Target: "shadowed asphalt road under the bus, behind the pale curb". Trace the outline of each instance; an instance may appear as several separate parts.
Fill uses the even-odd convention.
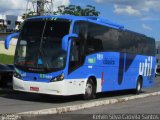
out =
[[[155,92],[160,90],[160,77],[157,78],[155,86],[144,89],[141,94]],[[98,100],[120,98],[124,96],[132,96],[132,91],[108,92],[105,94],[98,94]],[[96,101],[90,100],[90,101]],[[40,109],[48,109],[62,106],[69,106],[81,104],[85,102],[81,96],[70,97],[41,97],[37,94],[14,92],[12,90],[0,89],[0,114],[5,113],[19,113]]]

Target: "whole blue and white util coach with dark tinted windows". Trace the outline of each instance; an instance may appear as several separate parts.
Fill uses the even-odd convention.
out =
[[[24,21],[15,50],[13,89],[83,95],[133,89],[155,81],[155,40],[90,16],[37,16]]]

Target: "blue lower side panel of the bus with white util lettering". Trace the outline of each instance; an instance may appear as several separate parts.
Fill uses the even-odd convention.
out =
[[[151,75],[150,69],[152,69]],[[87,80],[90,76],[94,76],[99,84],[97,86],[99,92],[105,92],[134,89],[139,75],[142,75],[143,87],[151,86],[155,79],[154,71],[155,57],[100,52],[86,56],[84,64],[72,71],[68,79]]]

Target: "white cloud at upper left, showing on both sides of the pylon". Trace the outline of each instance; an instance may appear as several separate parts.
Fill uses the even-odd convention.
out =
[[[28,0],[0,0],[0,14],[22,15],[25,13],[27,1]],[[54,10],[57,10],[57,7],[60,5],[67,6],[69,4],[70,0],[53,0]],[[32,8],[33,7],[31,7],[31,9]]]

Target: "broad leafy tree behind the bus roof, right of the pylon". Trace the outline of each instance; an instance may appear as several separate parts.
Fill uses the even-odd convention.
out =
[[[64,5],[59,6],[58,10],[54,12],[55,15],[75,15],[75,16],[99,16],[100,12],[96,10],[94,6],[87,5],[86,8],[81,6],[69,5],[65,7]]]

